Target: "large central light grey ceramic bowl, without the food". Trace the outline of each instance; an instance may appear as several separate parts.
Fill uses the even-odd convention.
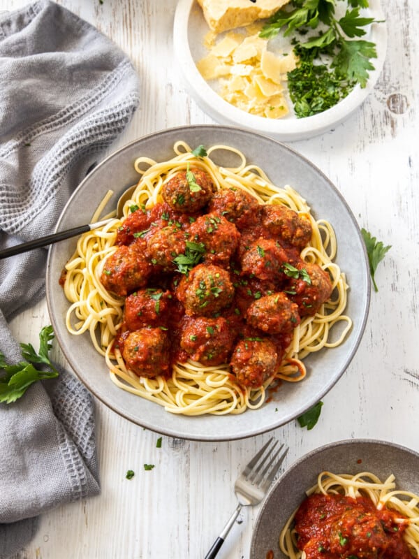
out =
[[[108,376],[105,361],[96,354],[89,334],[70,335],[65,315],[68,302],[58,284],[61,270],[71,256],[76,240],[53,245],[47,263],[47,304],[52,326],[64,355],[89,390],[115,412],[140,426],[191,440],[235,440],[267,430],[295,419],[320,400],[341,377],[355,354],[365,328],[369,308],[370,279],[365,246],[351,210],[339,191],[307,159],[275,140],[229,126],[184,126],[145,136],[123,147],[99,164],[80,184],[59,219],[57,231],[89,223],[99,201],[108,189],[115,191],[109,210],[115,208],[122,191],[138,180],[133,169],[136,157],[149,156],[156,161],[172,157],[176,140],[189,146],[203,144],[233,145],[247,159],[261,166],[273,182],[291,184],[307,199],[315,216],[328,219],[335,227],[337,263],[346,272],[348,284],[347,314],[353,328],[340,347],[319,351],[306,359],[304,382],[284,384],[272,400],[255,411],[239,416],[185,417],[166,412],[162,407],[117,388]],[[231,166],[237,159],[220,153],[217,164]]]

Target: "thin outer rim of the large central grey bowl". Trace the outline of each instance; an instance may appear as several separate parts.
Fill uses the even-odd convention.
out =
[[[182,131],[199,131],[200,133],[216,133],[216,131],[225,131],[226,133],[229,133],[230,131],[235,131],[236,133],[244,134],[247,136],[251,136],[251,138],[263,138],[263,140],[268,141],[270,143],[274,143],[276,145],[278,145],[280,147],[281,150],[286,150],[286,152],[290,152],[291,154],[294,155],[294,157],[296,157],[297,159],[300,159],[304,162],[305,165],[309,166],[309,168],[311,168],[311,170],[314,171],[314,173],[316,173],[317,175],[320,175],[321,178],[328,183],[328,186],[330,187],[330,189],[333,191],[333,193],[335,194],[335,196],[337,196],[337,198],[339,198],[339,201],[341,201],[342,205],[344,205],[344,208],[346,209],[347,215],[348,217],[351,219],[351,222],[353,223],[353,226],[355,227],[355,230],[357,231],[357,235],[359,240],[362,240],[361,238],[361,234],[360,234],[360,228],[358,226],[358,222],[355,219],[355,216],[353,215],[353,212],[351,210],[351,208],[349,207],[348,203],[346,202],[344,196],[342,196],[341,192],[339,191],[339,189],[337,189],[337,187],[335,186],[335,184],[332,183],[332,181],[328,178],[327,175],[325,175],[325,173],[323,173],[323,171],[318,168],[314,163],[312,163],[309,159],[307,159],[307,157],[304,157],[304,155],[300,154],[300,152],[297,152],[297,150],[295,150],[293,147],[290,147],[288,145],[285,145],[284,143],[279,142],[279,140],[275,140],[274,138],[270,138],[268,136],[265,136],[261,133],[257,133],[254,131],[249,131],[246,129],[240,129],[237,126],[226,126],[226,125],[219,125],[219,124],[197,124],[197,125],[184,125],[184,126],[175,126],[172,127],[170,129],[162,129],[160,131],[156,131],[156,132],[152,132],[149,133],[145,136],[140,136],[139,138],[136,138],[135,140],[132,140],[128,143],[126,143],[126,145],[123,145],[122,147],[119,147],[119,149],[115,150],[114,152],[112,152],[111,154],[108,155],[108,157],[105,157],[105,159],[103,159],[103,161],[101,161],[95,168],[94,170],[91,171],[91,173],[89,173],[89,175],[87,175],[87,177],[84,177],[84,180],[82,180],[82,182],[80,182],[80,184],[78,185],[78,187],[75,189],[75,191],[73,192],[72,196],[68,199],[66,205],[64,206],[61,215],[57,221],[57,226],[56,226],[56,231],[59,231],[61,222],[65,219],[66,217],[66,212],[68,210],[68,208],[71,208],[71,204],[73,203],[73,199],[76,198],[78,196],[78,193],[80,191],[82,191],[82,189],[84,188],[84,184],[91,180],[91,175],[93,175],[96,170],[102,168],[103,166],[105,166],[106,164],[108,164],[109,161],[112,161],[112,159],[114,159],[115,157],[118,157],[118,155],[126,150],[129,150],[131,147],[135,146],[138,143],[142,143],[143,141],[147,141],[149,139],[152,138],[159,138],[161,136],[166,136],[166,135],[170,135],[173,133],[177,133],[179,134],[179,138],[182,138]],[[367,268],[367,251],[365,248],[365,244],[363,242],[361,242],[361,246],[363,249],[363,256],[364,256],[364,264],[365,264],[365,268]],[[59,250],[59,247],[57,245],[51,245],[50,249],[48,251],[48,257],[47,257],[47,267],[46,267],[46,298],[47,298],[47,308],[48,308],[48,312],[50,314],[50,319],[52,322],[52,326],[54,329],[54,332],[60,332],[62,325],[59,324],[59,317],[57,317],[57,313],[54,312],[54,308],[53,308],[53,297],[52,297],[52,285],[54,282],[54,277],[50,277],[50,273],[51,273],[51,267],[52,267],[52,259],[54,258],[54,255],[57,254]],[[366,270],[368,271],[368,270]],[[370,298],[371,298],[371,278],[369,273],[366,273],[366,281],[367,281],[367,286],[366,286],[366,294],[365,294],[365,305],[362,308],[362,321],[360,321],[360,326],[358,328],[358,335],[357,337],[353,340],[353,347],[351,349],[351,351],[349,352],[348,356],[346,356],[346,359],[343,361],[343,363],[341,364],[341,373],[338,377],[333,377],[332,379],[329,379],[329,381],[327,383],[324,384],[324,386],[322,387],[321,391],[319,391],[318,393],[316,393],[316,395],[318,395],[318,399],[323,398],[323,395],[325,395],[326,393],[328,393],[328,391],[330,391],[330,389],[332,389],[333,386],[335,386],[335,384],[337,383],[337,381],[341,378],[341,376],[344,374],[344,371],[348,368],[348,365],[351,363],[351,361],[353,360],[353,357],[355,356],[355,353],[358,351],[358,347],[360,344],[360,341],[362,340],[362,336],[365,333],[365,326],[367,324],[367,318],[368,318],[368,314],[369,314],[369,307],[370,307]],[[63,317],[61,317],[62,320]],[[355,333],[354,333],[355,335]],[[120,416],[123,416],[125,419],[128,419],[128,421],[131,421],[135,424],[137,424],[138,426],[142,426],[145,428],[148,428],[149,430],[153,430],[156,433],[160,433],[162,435],[168,435],[170,437],[181,437],[184,438],[186,440],[199,440],[199,441],[227,441],[227,440],[240,440],[240,439],[244,439],[247,437],[252,437],[255,435],[259,435],[261,433],[266,433],[267,431],[273,430],[274,428],[278,428],[282,425],[285,425],[286,423],[288,423],[289,421],[292,421],[293,419],[295,419],[295,414],[293,414],[293,416],[285,416],[283,419],[280,419],[279,421],[274,421],[270,426],[258,426],[257,423],[255,426],[253,426],[253,429],[251,430],[251,432],[244,432],[244,433],[240,433],[239,435],[236,434],[226,434],[226,435],[220,435],[217,433],[182,433],[179,434],[177,431],[174,431],[172,428],[170,427],[161,427],[161,426],[153,426],[149,423],[147,423],[147,421],[138,421],[138,418],[135,418],[131,413],[128,413],[122,409],[119,409],[118,405],[116,403],[112,403],[110,402],[107,398],[105,397],[101,397],[100,395],[98,395],[96,393],[96,391],[94,389],[91,388],[91,383],[88,382],[88,377],[86,379],[86,377],[84,375],[80,375],[80,373],[77,370],[77,367],[75,365],[73,365],[72,363],[72,356],[69,354],[69,351],[66,348],[66,344],[63,340],[61,340],[61,337],[59,335],[57,335],[57,341],[59,343],[59,346],[61,348],[61,351],[63,352],[64,356],[66,357],[66,360],[68,361],[68,364],[71,366],[71,369],[75,372],[75,375],[77,375],[77,377],[80,379],[80,381],[82,382],[82,384],[84,384],[84,386],[87,387],[87,389],[89,391],[91,391],[92,394],[94,394],[95,398],[98,398],[98,400],[100,400],[104,405],[106,405],[107,407],[109,407],[110,409],[112,409],[112,411],[116,412],[117,414],[119,414]],[[119,389],[121,390],[121,389]],[[138,398],[135,396],[135,398]],[[156,404],[155,404],[156,405]],[[311,407],[311,405],[314,405],[314,402],[310,402],[307,405],[304,405],[301,407],[301,409],[299,410],[298,414],[300,413],[304,413],[305,411],[307,411],[307,409],[309,409],[309,407]],[[171,416],[172,414],[170,414],[169,412],[166,412],[164,409],[162,409],[164,414],[168,414],[168,416]],[[252,410],[247,410],[248,412],[251,412]],[[255,412],[257,412],[258,410],[255,410]],[[291,415],[291,414],[288,414]],[[223,417],[223,416],[221,416]],[[189,418],[189,419],[193,419],[194,418]],[[166,423],[165,421],[163,421],[163,423]]]

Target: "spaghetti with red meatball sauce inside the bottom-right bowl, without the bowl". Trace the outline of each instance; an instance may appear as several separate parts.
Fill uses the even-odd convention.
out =
[[[279,537],[291,559],[419,556],[419,496],[395,476],[321,472]]]

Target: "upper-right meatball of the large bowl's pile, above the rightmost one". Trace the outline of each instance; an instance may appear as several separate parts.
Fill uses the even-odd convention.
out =
[[[302,249],[311,239],[311,223],[306,214],[297,214],[285,205],[266,204],[260,217],[263,227],[293,247]]]

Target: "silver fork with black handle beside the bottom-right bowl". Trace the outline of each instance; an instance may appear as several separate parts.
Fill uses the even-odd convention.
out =
[[[213,559],[220,551],[242,507],[247,507],[249,504],[252,506],[259,504],[265,497],[267,490],[270,488],[270,484],[272,484],[274,477],[279,472],[279,467],[288,452],[288,447],[284,448],[284,444],[281,444],[279,449],[272,454],[278,444],[278,441],[274,441],[273,443],[272,441],[274,441],[274,437],[271,437],[256,456],[253,456],[249,464],[244,467],[244,470],[236,479],[234,491],[239,500],[239,504],[237,504],[237,508],[230,516],[228,523],[224,526],[219,537],[217,537],[214,544],[212,544],[205,559]]]

